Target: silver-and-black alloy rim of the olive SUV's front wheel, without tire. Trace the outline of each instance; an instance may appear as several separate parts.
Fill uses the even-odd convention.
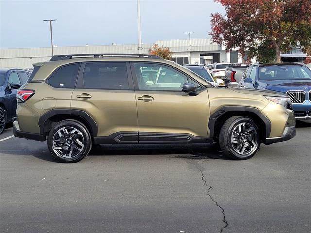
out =
[[[231,144],[233,149],[241,156],[247,156],[258,147],[258,133],[249,123],[239,123],[233,128]]]

